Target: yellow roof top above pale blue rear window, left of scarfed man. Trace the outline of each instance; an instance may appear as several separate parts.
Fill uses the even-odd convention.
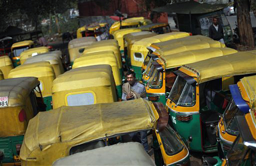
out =
[[[74,68],[54,79],[52,93],[87,87],[115,86],[112,77],[112,68],[107,64]]]

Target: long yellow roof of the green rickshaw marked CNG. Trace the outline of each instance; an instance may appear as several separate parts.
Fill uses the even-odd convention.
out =
[[[184,65],[179,70],[197,77],[198,83],[225,76],[256,73],[256,54],[246,51],[238,52]]]

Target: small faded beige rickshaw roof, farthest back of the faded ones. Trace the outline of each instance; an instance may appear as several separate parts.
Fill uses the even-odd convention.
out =
[[[96,42],[96,38],[93,36],[90,37],[83,37],[83,38],[76,38],[71,40],[68,43],[68,48],[72,49],[72,48],[76,48],[76,47],[81,47],[81,46],[87,46],[92,44],[93,42]]]

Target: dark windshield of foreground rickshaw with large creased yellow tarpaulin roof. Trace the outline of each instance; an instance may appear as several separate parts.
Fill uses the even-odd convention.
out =
[[[159,134],[167,155],[172,156],[182,151],[184,146],[169,125],[163,131],[159,132]]]

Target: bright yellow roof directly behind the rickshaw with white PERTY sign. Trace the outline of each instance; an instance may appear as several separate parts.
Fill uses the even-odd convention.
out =
[[[35,62],[31,64],[22,64],[17,66],[16,68],[12,69],[8,74],[8,78],[15,78],[15,77],[26,77],[26,76],[33,76],[33,77],[44,77],[44,76],[52,76],[55,73],[50,65],[50,62]]]

